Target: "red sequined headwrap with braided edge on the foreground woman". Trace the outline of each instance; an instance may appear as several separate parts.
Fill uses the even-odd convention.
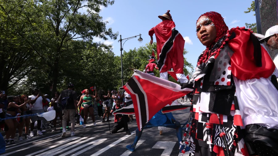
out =
[[[224,19],[222,18],[221,14],[219,14],[217,12],[210,11],[210,12],[206,12],[206,13],[202,14],[201,16],[208,16],[212,20],[212,22],[214,23],[214,25],[216,27],[217,34],[216,34],[216,39],[204,51],[204,55],[199,60],[198,65],[200,65],[202,62],[204,63],[208,59],[207,53],[210,52],[210,50],[209,50],[210,47],[212,47],[214,43],[216,43],[220,38],[222,38],[224,35],[226,35],[227,31],[229,29],[227,27],[226,23],[224,22]],[[216,54],[216,51],[214,53],[211,53],[209,56],[214,55],[214,54]]]

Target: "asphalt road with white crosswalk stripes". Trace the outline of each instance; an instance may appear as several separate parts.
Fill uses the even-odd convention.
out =
[[[180,100],[179,100],[180,101]],[[184,103],[189,105],[190,103]],[[173,116],[180,123],[185,123],[189,117],[189,109],[173,112]],[[111,116],[111,128],[114,118]],[[154,156],[176,156],[178,154],[178,139],[175,129],[167,128],[163,135],[159,135],[158,127],[144,129],[142,136],[137,143],[135,152],[127,151],[126,145],[132,144],[135,138],[136,122],[128,124],[132,135],[126,135],[121,129],[119,133],[110,134],[108,123],[102,123],[101,118],[96,118],[97,126],[92,125],[91,119],[83,129],[82,125],[75,126],[75,136],[70,137],[70,132],[65,138],[61,138],[61,132],[51,132],[48,129],[42,136],[16,142],[6,146],[6,153],[1,156],[135,156],[135,155],[154,155]],[[34,130],[36,134],[36,131]],[[15,138],[15,140],[17,137]],[[185,154],[187,155],[187,154]]]

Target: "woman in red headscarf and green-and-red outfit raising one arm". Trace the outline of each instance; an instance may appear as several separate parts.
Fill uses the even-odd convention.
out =
[[[86,121],[88,117],[88,112],[90,113],[92,120],[93,120],[93,125],[96,126],[95,123],[95,116],[94,116],[94,107],[93,107],[93,99],[95,99],[98,96],[98,93],[95,92],[95,96],[89,94],[89,89],[85,89],[85,95],[82,95],[77,107],[81,105],[81,109],[79,111],[79,114],[84,120],[83,128],[86,128]],[[82,101],[82,104],[81,104]]]

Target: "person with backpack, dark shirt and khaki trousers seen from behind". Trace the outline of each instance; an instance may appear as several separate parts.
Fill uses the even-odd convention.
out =
[[[63,111],[63,120],[62,120],[62,137],[65,137],[66,134],[66,126],[67,120],[70,119],[71,122],[71,135],[74,136],[74,125],[75,125],[75,117],[74,114],[78,113],[77,109],[77,94],[74,91],[74,84],[69,83],[68,89],[63,90],[58,98],[58,101],[61,105]]]

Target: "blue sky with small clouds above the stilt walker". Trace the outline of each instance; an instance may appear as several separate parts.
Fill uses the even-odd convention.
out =
[[[205,47],[196,36],[196,20],[208,11],[216,11],[222,15],[225,23],[230,28],[243,27],[245,23],[255,23],[254,12],[244,14],[243,11],[250,7],[252,0],[115,0],[114,5],[102,7],[100,15],[108,21],[107,28],[112,27],[113,32],[118,31],[117,40],[102,41],[113,45],[115,55],[120,55],[120,35],[128,38],[142,34],[143,42],[138,38],[130,39],[124,44],[124,50],[139,48],[150,42],[149,30],[161,22],[158,15],[170,10],[176,30],[185,38],[185,48],[188,52],[187,61],[196,65],[197,58]],[[154,37],[155,41],[155,37]]]

